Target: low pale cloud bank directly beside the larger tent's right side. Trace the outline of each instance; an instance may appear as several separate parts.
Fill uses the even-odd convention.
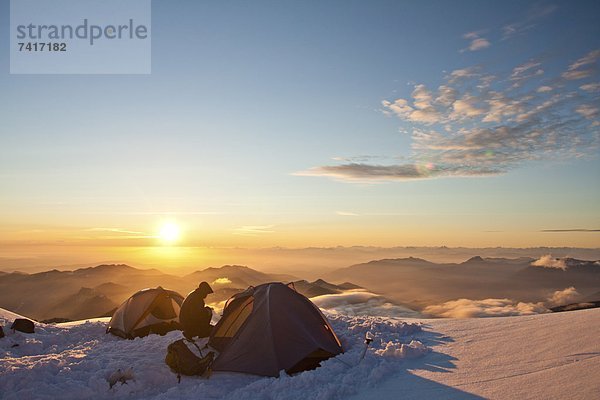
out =
[[[393,304],[375,293],[348,290],[340,294],[326,294],[310,299],[319,308],[344,315],[419,318],[421,314],[410,308]]]

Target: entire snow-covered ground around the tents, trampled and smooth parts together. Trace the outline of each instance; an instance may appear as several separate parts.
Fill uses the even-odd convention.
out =
[[[329,314],[347,351],[314,371],[180,384],[164,363],[179,332],[123,340],[100,319],[38,324],[28,335],[8,329],[15,317],[0,309],[2,399],[600,398],[600,309],[436,320]],[[357,364],[366,332],[374,341]],[[108,378],[128,368],[134,379],[110,389]]]

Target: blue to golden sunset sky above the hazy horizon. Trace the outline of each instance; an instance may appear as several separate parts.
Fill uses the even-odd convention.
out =
[[[8,11],[3,260],[600,247],[597,1],[153,1],[149,75],[11,75]]]

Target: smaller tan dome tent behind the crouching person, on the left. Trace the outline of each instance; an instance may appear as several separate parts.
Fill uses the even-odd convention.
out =
[[[160,286],[140,290],[117,308],[106,333],[133,339],[150,333],[164,335],[180,329],[181,303],[183,296]]]

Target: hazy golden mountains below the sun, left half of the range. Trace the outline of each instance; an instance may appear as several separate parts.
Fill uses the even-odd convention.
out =
[[[296,279],[237,265],[207,268],[184,277],[124,264],[103,264],[75,271],[53,269],[35,274],[13,272],[0,275],[0,307],[37,320],[74,320],[104,315],[147,287],[162,286],[185,296],[204,280],[215,291],[208,301],[218,302],[251,285]]]

